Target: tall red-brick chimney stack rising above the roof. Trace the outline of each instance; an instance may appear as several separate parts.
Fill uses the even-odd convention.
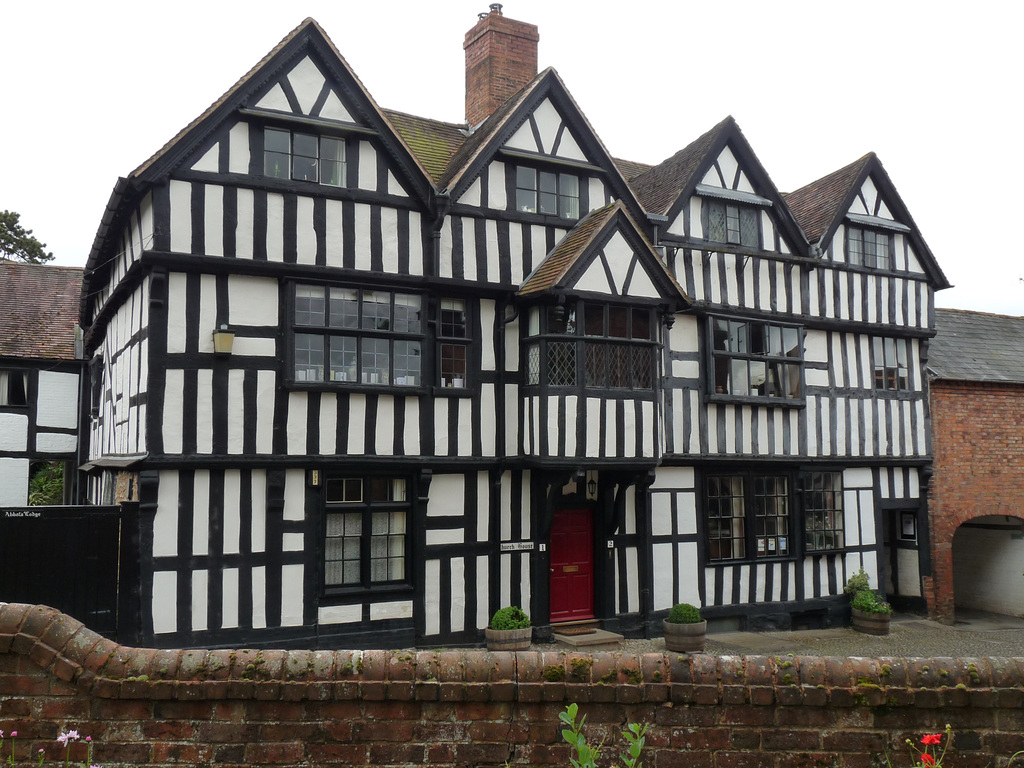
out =
[[[466,33],[466,122],[479,125],[537,75],[537,25],[502,15],[502,4]]]

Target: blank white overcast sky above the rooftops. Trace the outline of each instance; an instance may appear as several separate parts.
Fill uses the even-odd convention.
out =
[[[486,0],[5,4],[0,210],[84,265],[125,176],[305,16],[381,106],[459,122]],[[732,115],[790,191],[879,155],[954,288],[1024,314],[1024,3],[509,0],[614,157],[657,163]]]

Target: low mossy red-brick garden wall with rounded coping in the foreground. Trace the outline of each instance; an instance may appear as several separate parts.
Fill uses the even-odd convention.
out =
[[[1024,658],[168,651],[0,603],[0,730],[19,755],[62,758],[53,739],[74,727],[104,768],[568,766],[571,701],[615,746],[625,722],[649,723],[653,768],[867,768],[886,749],[908,766],[903,739],[945,723],[949,768],[1024,749]]]

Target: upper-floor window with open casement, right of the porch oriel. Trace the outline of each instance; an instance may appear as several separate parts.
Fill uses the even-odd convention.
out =
[[[761,321],[711,319],[712,392],[796,400],[804,364],[800,329]]]

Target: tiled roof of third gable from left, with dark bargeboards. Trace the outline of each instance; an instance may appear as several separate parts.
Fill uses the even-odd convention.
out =
[[[772,202],[773,218],[786,236],[794,255],[806,257],[804,233],[731,115],[668,160],[631,179],[630,184],[644,208],[652,214],[671,219],[678,215],[726,146],[736,156],[740,168],[758,189],[758,194]]]

